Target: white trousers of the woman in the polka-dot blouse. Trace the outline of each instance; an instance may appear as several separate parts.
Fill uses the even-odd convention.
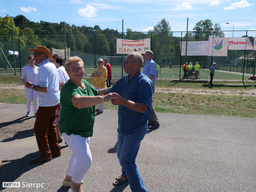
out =
[[[24,86],[25,89],[25,97],[27,99],[27,111],[31,111],[31,105],[33,101],[34,113],[37,112],[38,109],[38,94],[37,91],[33,89],[28,89]]]

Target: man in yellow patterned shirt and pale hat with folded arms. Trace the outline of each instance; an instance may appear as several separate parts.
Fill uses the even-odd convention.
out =
[[[95,89],[105,89],[106,88],[106,80],[107,80],[107,68],[103,65],[103,59],[99,58],[97,61],[98,67],[92,72],[91,78],[93,78],[93,84]],[[104,111],[104,103],[100,103],[97,105],[97,113],[103,113]]]

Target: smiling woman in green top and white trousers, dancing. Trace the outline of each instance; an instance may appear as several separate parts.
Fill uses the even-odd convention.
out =
[[[110,88],[96,90],[84,76],[83,60],[77,56],[69,57],[65,70],[70,79],[60,92],[61,116],[59,131],[73,152],[66,172],[63,186],[72,191],[83,191],[81,183],[91,166],[92,156],[89,141],[93,132],[95,105],[116,97],[106,94]]]

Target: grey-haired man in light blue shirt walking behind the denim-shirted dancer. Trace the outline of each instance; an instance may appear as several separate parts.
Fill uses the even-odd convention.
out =
[[[144,59],[146,62],[145,62],[145,66],[143,68],[142,73],[145,76],[147,76],[148,78],[150,78],[150,80],[153,82],[154,92],[155,92],[155,82],[156,82],[157,70],[156,70],[156,63],[152,60],[152,58],[153,58],[153,52],[151,50],[147,50],[144,55]],[[150,117],[148,119],[148,129],[156,129],[159,126],[160,126],[160,124],[159,124],[158,118],[156,116],[156,112],[153,107],[153,100],[152,100],[151,113],[150,113]]]

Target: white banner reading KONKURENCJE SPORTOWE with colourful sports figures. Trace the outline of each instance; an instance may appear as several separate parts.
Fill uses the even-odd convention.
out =
[[[116,39],[117,54],[130,54],[135,51],[144,54],[147,50],[150,50],[150,38],[141,40]]]

